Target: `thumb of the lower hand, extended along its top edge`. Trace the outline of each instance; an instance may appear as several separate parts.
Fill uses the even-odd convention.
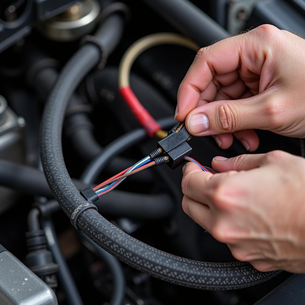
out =
[[[212,160],[214,170],[225,172],[229,170],[250,170],[260,167],[266,161],[267,154],[248,154],[240,155],[234,158],[224,158],[216,156]]]

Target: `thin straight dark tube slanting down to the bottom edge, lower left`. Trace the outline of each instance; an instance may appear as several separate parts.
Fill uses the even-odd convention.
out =
[[[52,252],[54,261],[60,267],[58,277],[66,294],[67,303],[70,305],[83,305],[73,276],[59,247],[53,221],[50,218],[42,218],[41,224],[45,231],[48,249]]]

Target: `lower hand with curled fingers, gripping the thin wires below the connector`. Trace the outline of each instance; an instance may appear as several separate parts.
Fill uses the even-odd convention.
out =
[[[259,271],[305,272],[305,159],[282,151],[185,165],[182,208]]]

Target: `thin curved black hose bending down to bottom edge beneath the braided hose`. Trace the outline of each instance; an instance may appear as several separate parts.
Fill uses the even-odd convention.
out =
[[[97,256],[101,258],[102,261],[106,263],[109,267],[109,271],[112,275],[113,281],[113,292],[110,300],[111,305],[122,305],[125,297],[125,275],[120,262],[113,257],[111,254],[106,252],[104,249],[99,247],[95,242],[93,242],[87,235],[81,233],[82,239],[88,245],[87,247],[91,249]]]

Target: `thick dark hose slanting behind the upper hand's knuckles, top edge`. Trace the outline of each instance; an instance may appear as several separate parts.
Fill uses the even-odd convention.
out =
[[[188,0],[144,2],[199,46],[204,47],[229,36],[223,27]]]

